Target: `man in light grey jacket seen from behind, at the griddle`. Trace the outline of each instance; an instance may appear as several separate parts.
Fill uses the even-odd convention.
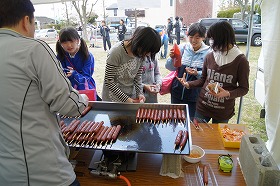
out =
[[[0,1],[0,185],[77,186],[57,113],[79,116],[88,98],[34,39],[34,11],[30,0]]]

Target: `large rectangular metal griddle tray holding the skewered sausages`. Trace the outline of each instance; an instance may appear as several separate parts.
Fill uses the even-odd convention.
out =
[[[113,103],[113,102],[91,102],[92,109],[82,118],[85,120],[100,122],[104,121],[104,126],[121,125],[122,129],[117,140],[112,145],[107,146],[79,146],[81,148],[92,148],[98,150],[129,151],[155,154],[178,154],[190,153],[191,130],[188,115],[188,105],[185,104],[149,104],[149,103]],[[136,112],[138,108],[185,109],[185,123],[159,123],[150,122],[136,123]],[[68,125],[73,118],[63,119]],[[174,141],[179,130],[188,130],[189,139],[182,151],[174,150]],[[72,145],[69,145],[72,147]]]

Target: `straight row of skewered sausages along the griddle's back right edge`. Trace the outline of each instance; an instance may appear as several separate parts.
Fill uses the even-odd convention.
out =
[[[148,109],[139,108],[136,112],[136,123],[150,122],[150,123],[168,123],[168,122],[186,122],[186,113],[183,109]]]

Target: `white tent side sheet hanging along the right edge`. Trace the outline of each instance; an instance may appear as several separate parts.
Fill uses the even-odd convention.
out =
[[[280,1],[265,0],[261,10],[267,148],[280,168]]]

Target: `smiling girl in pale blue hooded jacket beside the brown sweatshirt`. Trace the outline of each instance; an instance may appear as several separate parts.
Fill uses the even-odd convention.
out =
[[[200,79],[205,56],[209,53],[210,47],[205,45],[206,28],[199,23],[193,23],[188,30],[188,43],[179,45],[182,55],[182,66],[174,67],[174,51],[171,49],[170,58],[167,59],[165,67],[170,71],[177,71],[178,77],[182,78],[186,73],[187,81]],[[171,103],[188,104],[191,120],[195,116],[196,102],[200,88],[186,89],[180,81],[174,79],[171,87]]]

